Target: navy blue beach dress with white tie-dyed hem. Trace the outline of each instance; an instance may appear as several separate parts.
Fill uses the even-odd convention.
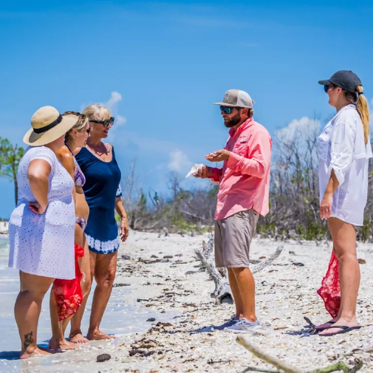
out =
[[[112,160],[104,162],[82,148],[75,158],[85,175],[83,186],[85,200],[89,206],[89,217],[85,236],[90,251],[97,254],[114,253],[119,248],[118,224],[115,220],[115,200],[122,195],[121,173],[114,148],[106,144]]]

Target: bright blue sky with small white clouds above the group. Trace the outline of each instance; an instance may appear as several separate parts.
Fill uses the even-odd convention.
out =
[[[254,118],[272,135],[293,120],[330,116],[317,81],[339,69],[355,71],[371,100],[373,5],[325,3],[2,1],[0,136],[21,144],[40,106],[108,103],[122,178],[136,159],[139,184],[165,193],[170,170],[184,177],[224,146],[212,103],[227,89],[252,96]],[[14,208],[6,179],[0,195],[6,218]]]

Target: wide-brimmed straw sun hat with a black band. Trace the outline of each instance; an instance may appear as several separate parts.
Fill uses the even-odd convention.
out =
[[[51,143],[65,135],[77,122],[75,115],[62,115],[52,106],[43,106],[31,118],[31,130],[23,137],[23,142],[30,146]]]

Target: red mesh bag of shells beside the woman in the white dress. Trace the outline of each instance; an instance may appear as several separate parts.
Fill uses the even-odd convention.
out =
[[[79,268],[78,259],[83,257],[84,249],[77,244],[75,250],[75,278],[73,280],[55,279],[52,290],[57,302],[59,321],[73,315],[83,302],[83,291],[80,286],[82,272]]]

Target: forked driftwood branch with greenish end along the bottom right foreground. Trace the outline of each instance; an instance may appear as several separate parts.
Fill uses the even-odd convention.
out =
[[[296,367],[293,367],[286,363],[285,361],[279,360],[276,357],[267,355],[265,352],[248,342],[243,337],[237,337],[236,342],[249,350],[252,354],[260,359],[266,361],[267,363],[273,365],[277,369],[280,369],[286,373],[331,373],[331,372],[338,372],[342,371],[343,373],[355,373],[361,369],[363,366],[363,362],[361,360],[355,359],[355,365],[352,368],[349,368],[343,361],[338,361],[334,364],[328,365],[325,368],[313,369],[312,371],[301,371]],[[247,368],[241,373],[254,371],[255,368]],[[269,372],[272,373],[273,371],[264,370],[264,369],[257,369],[257,372]]]

